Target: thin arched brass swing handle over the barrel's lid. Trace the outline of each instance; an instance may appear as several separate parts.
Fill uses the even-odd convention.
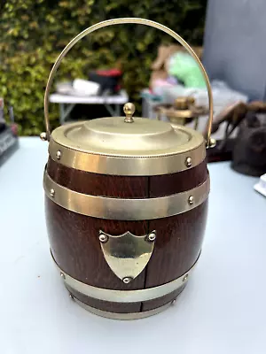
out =
[[[194,58],[197,62],[197,64],[200,67],[200,71],[203,74],[204,81],[207,86],[207,96],[208,96],[208,106],[209,106],[209,119],[207,123],[207,141],[206,141],[206,146],[207,148],[211,147],[214,142],[213,139],[210,138],[211,135],[211,128],[212,128],[212,122],[213,122],[213,96],[212,96],[212,90],[211,86],[207,77],[207,73],[204,69],[204,66],[201,64],[200,59],[197,57],[196,53],[192,48],[189,46],[187,42],[184,41],[184,39],[180,36],[177,35],[176,32],[172,31],[170,28],[165,27],[163,25],[160,25],[158,22],[151,21],[150,19],[137,19],[137,18],[124,18],[124,19],[108,19],[106,21],[98,22],[96,25],[93,25],[91,27],[88,27],[84,29],[79,35],[76,35],[72,41],[70,41],[64,50],[61,51],[59,58],[57,58],[56,62],[51,68],[51,73],[49,75],[45,93],[44,93],[44,119],[45,119],[45,127],[46,127],[46,133],[41,134],[41,138],[43,140],[50,140],[51,136],[51,130],[50,130],[50,122],[49,122],[49,94],[51,90],[51,84],[54,79],[54,76],[59,68],[59,65],[61,64],[62,59],[66,56],[66,53],[71,50],[71,48],[74,46],[76,42],[81,40],[85,35],[90,35],[92,32],[98,30],[99,28],[107,27],[107,26],[113,26],[113,25],[121,25],[121,24],[127,24],[127,23],[135,23],[135,24],[140,24],[140,25],[145,25],[149,27],[154,27],[157,29],[160,29],[162,32],[170,35],[173,37],[177,42],[182,44],[184,48],[192,55],[192,58]]]

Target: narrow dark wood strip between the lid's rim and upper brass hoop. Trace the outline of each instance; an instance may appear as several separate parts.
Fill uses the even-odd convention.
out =
[[[183,172],[152,177],[113,176],[75,170],[49,158],[47,173],[61,186],[91,196],[148,198],[169,196],[199,186],[207,180],[207,165],[203,161]]]

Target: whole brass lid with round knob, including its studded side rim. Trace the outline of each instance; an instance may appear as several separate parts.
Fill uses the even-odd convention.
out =
[[[53,160],[91,173],[147,176],[176,173],[199,165],[205,140],[195,130],[168,122],[134,118],[134,104],[124,117],[107,117],[56,128],[49,153]]]

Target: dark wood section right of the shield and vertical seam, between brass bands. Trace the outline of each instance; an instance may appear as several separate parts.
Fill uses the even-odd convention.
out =
[[[150,221],[156,230],[153,255],[146,266],[145,288],[173,281],[197,260],[207,220],[207,201],[189,212]]]

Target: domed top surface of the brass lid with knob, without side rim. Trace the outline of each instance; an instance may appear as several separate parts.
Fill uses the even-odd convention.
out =
[[[127,112],[127,104],[124,111]],[[134,110],[133,110],[134,112]],[[192,150],[203,142],[199,133],[155,119],[92,119],[58,127],[52,140],[69,149],[116,157],[159,157]]]

